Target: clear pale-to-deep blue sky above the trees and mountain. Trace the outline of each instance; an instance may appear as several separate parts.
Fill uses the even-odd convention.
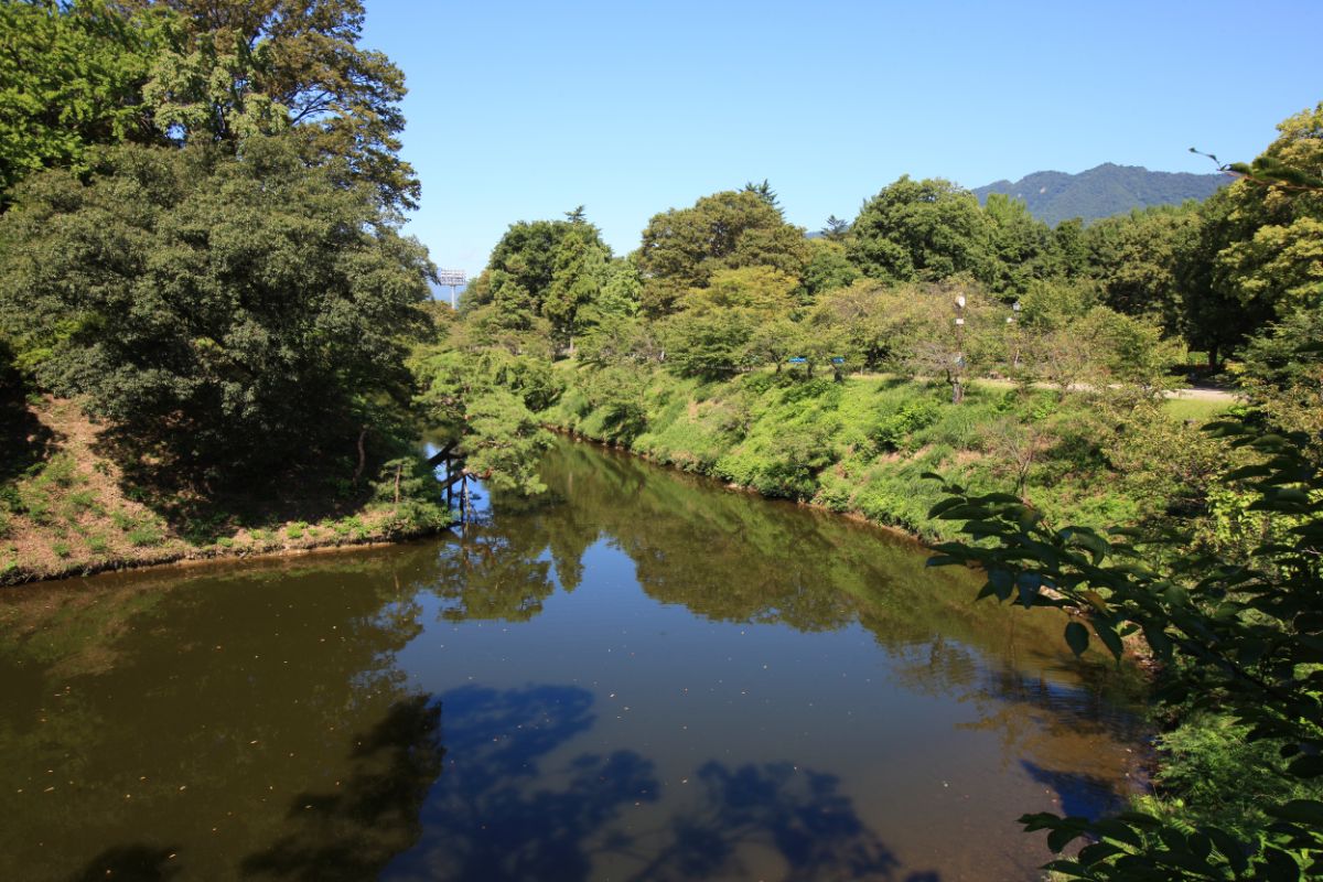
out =
[[[478,272],[577,205],[617,254],[662,210],[771,181],[819,229],[904,173],[1211,172],[1323,100],[1323,0],[366,0],[409,85],[409,231]]]

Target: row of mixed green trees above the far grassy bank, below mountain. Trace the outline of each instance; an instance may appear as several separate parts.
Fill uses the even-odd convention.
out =
[[[1259,161],[1316,164],[1320,126],[1323,106],[1287,119]],[[980,205],[902,176],[808,235],[763,181],[656,214],[624,257],[582,208],[513,223],[462,312],[512,353],[651,353],[713,378],[803,358],[808,372],[1151,385],[1191,353],[1221,368],[1316,304],[1320,218],[1316,193],[1283,200],[1241,176],[1204,202],[1048,227],[1009,197]]]

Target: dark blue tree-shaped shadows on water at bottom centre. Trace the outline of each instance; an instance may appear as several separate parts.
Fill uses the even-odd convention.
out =
[[[632,750],[566,756],[594,721],[593,696],[577,686],[479,686],[442,696],[445,774],[422,809],[423,841],[385,878],[742,878],[761,854],[786,879],[937,879],[901,875],[900,862],[841,795],[840,780],[790,762],[695,774],[695,801],[669,817],[635,822],[663,784]]]

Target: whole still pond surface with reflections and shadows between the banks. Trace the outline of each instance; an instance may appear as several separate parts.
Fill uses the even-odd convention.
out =
[[[0,594],[0,879],[1025,879],[1125,677],[839,518],[591,447],[463,536]]]

